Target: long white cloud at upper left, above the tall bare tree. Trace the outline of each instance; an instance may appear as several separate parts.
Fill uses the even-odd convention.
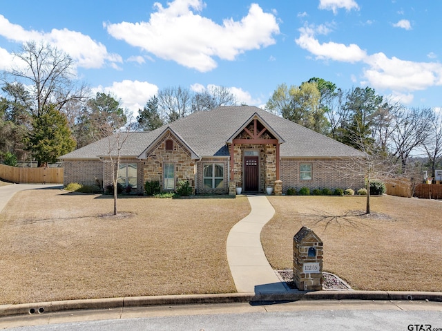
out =
[[[122,62],[117,54],[108,53],[106,46],[94,41],[81,32],[68,29],[52,29],[50,32],[25,30],[18,24],[10,23],[0,15],[0,35],[10,41],[26,42],[44,40],[70,55],[77,66],[84,68],[101,68],[106,62]]]

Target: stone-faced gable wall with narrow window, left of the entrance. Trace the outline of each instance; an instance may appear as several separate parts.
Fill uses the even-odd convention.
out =
[[[166,150],[166,140],[173,140],[173,149]],[[142,160],[142,182],[158,180],[164,185],[164,162],[175,163],[175,189],[179,180],[188,180],[195,191],[195,160],[191,153],[171,134],[166,134],[157,147],[148,151],[146,160]]]

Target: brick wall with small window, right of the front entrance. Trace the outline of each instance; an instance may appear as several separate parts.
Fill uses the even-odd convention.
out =
[[[300,180],[299,169],[301,163],[311,163],[311,180]],[[282,191],[289,187],[300,189],[349,189],[355,191],[364,187],[363,176],[351,176],[352,168],[345,159],[318,159],[318,158],[282,158],[280,177]],[[348,169],[348,170],[347,170]]]

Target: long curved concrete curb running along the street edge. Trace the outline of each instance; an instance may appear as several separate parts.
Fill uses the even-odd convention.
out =
[[[81,299],[0,305],[0,318],[21,314],[46,314],[67,310],[111,310],[155,305],[186,305],[213,303],[278,303],[300,300],[375,300],[375,301],[436,301],[442,302],[442,292],[394,292],[394,291],[340,291],[280,292],[280,293],[227,293],[187,294],[170,296],[128,296],[108,299]]]

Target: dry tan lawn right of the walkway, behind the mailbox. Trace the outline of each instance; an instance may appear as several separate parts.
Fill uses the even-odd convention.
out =
[[[275,217],[261,233],[275,269],[292,267],[293,236],[305,225],[324,243],[324,271],[359,290],[442,292],[442,202],[394,196],[270,197]],[[359,211],[359,212],[355,212]]]

